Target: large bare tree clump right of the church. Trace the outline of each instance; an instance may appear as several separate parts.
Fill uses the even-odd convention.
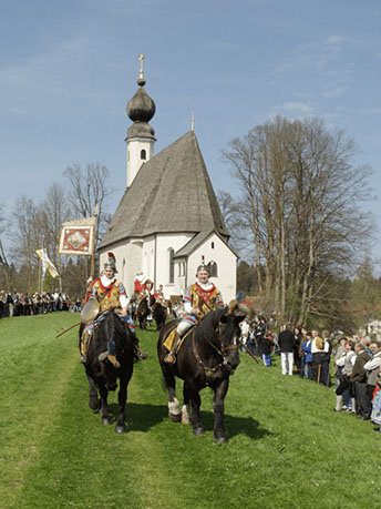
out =
[[[280,116],[223,151],[243,190],[258,285],[285,318],[306,323],[321,314],[330,275],[353,271],[369,236],[371,222],[359,207],[369,167],[354,164],[356,151],[322,120]]]

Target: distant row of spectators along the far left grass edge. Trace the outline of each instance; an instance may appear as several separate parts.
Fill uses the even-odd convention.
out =
[[[81,312],[81,298],[71,299],[64,292],[6,292],[0,291],[0,318],[30,316],[60,311]]]

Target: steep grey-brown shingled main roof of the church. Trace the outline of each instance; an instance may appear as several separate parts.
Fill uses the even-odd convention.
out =
[[[154,233],[226,230],[194,131],[143,164],[106,231],[101,248]]]

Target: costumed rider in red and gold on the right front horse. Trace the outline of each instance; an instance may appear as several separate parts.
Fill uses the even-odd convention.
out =
[[[209,281],[210,269],[203,262],[197,267],[196,282],[190,285],[184,297],[184,311],[186,315],[177,325],[176,335],[169,353],[164,357],[168,364],[176,360],[175,349],[178,339],[184,336],[189,327],[196,325],[203,316],[215,309],[216,306],[224,305],[223,296],[219,289]]]

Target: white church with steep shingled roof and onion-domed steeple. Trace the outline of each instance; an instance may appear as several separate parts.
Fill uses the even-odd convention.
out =
[[[237,255],[229,246],[218,202],[194,129],[154,155],[155,103],[145,91],[143,55],[138,89],[127,103],[126,191],[100,245],[101,267],[114,253],[128,297],[136,275],[163,285],[175,302],[195,282],[205,258],[225,302],[236,295]]]

